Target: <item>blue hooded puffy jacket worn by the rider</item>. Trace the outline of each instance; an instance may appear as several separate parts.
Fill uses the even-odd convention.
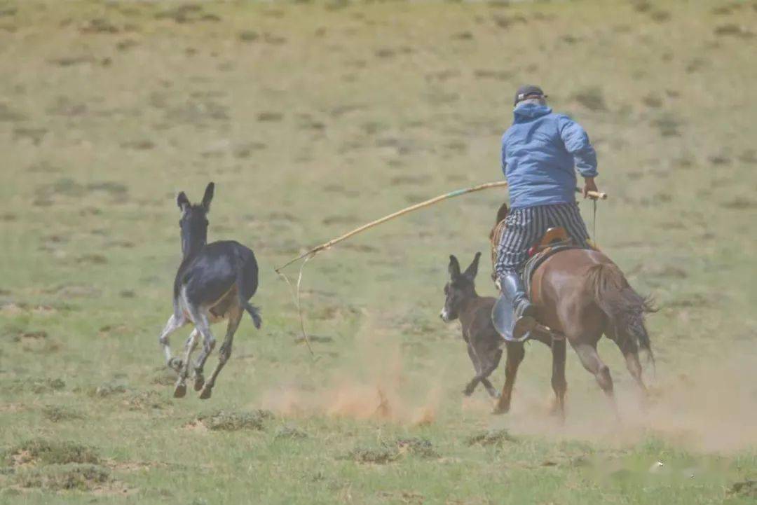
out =
[[[575,202],[575,169],[584,177],[597,175],[597,153],[584,129],[546,105],[521,104],[514,114],[502,135],[510,206]]]

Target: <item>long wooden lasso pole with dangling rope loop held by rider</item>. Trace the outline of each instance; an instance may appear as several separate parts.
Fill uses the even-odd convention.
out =
[[[305,260],[300,268],[300,274],[297,280],[297,294],[295,295],[294,293],[292,293],[292,297],[294,298],[295,305],[297,305],[297,311],[300,316],[300,328],[302,330],[302,336],[305,343],[307,344],[307,349],[310,350],[310,354],[314,355],[313,348],[310,346],[310,339],[307,338],[307,332],[305,331],[305,324],[304,324],[304,319],[302,318],[302,310],[301,310],[301,305],[300,305],[300,285],[302,282],[302,270],[305,267],[305,263],[310,261],[310,259],[313,259],[313,257],[316,256],[316,254],[318,254],[319,252],[325,251],[326,249],[329,249],[330,247],[335,246],[341,241],[347,240],[348,238],[353,237],[354,235],[357,235],[359,233],[362,233],[363,231],[366,231],[369,228],[373,228],[374,226],[378,226],[378,225],[381,225],[382,223],[391,221],[391,219],[398,218],[400,217],[400,215],[405,215],[408,212],[413,212],[415,210],[434,205],[435,203],[439,203],[443,200],[459,197],[463,194],[475,193],[476,191],[483,191],[491,187],[506,187],[506,186],[507,186],[507,181],[487,182],[485,184],[478,184],[478,186],[466,187],[465,189],[450,191],[450,193],[441,194],[438,197],[431,198],[430,200],[425,200],[424,202],[421,202],[421,203],[416,203],[415,205],[406,207],[405,209],[398,210],[397,212],[393,212],[389,215],[385,215],[383,218],[376,219],[375,221],[369,222],[366,225],[360,226],[360,228],[355,228],[353,231],[349,231],[346,234],[341,235],[340,237],[336,237],[335,239],[329,240],[326,243],[322,243],[319,246],[313,247],[313,249],[310,249],[309,251],[304,252],[297,258],[291,259],[290,261],[286,262],[284,265],[280,266],[279,268],[274,268],[274,270],[276,271],[276,274],[279,274],[279,276],[283,277],[291,289],[292,288],[291,282],[289,281],[288,277],[285,276],[285,274],[282,274],[282,270],[284,268],[287,268],[292,263],[300,261],[301,259]],[[597,199],[604,200],[607,197],[606,194],[597,193],[595,191],[589,191],[588,196],[592,198],[593,200],[597,200]]]

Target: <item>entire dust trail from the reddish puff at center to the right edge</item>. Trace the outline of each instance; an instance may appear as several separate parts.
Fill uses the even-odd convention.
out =
[[[661,363],[654,378],[646,370],[650,388],[646,399],[631,380],[621,377],[627,371],[615,367],[620,420],[599,388],[580,376],[584,370],[574,368],[568,377],[574,387],[569,386],[561,423],[550,413],[552,393],[543,374],[519,375],[512,411],[492,416],[493,403],[483,390],[471,398],[460,395],[459,404],[443,404],[442,398],[450,398],[446,389],[462,384],[467,373],[460,384],[444,384],[441,376],[414,375],[416,383],[422,382],[421,391],[410,392],[399,343],[375,329],[361,334],[370,336],[357,343],[356,358],[335,369],[326,383],[308,388],[273,386],[263,395],[262,406],[283,416],[347,417],[413,426],[437,422],[444,410],[447,416],[480,417],[491,428],[553,439],[625,446],[655,437],[708,452],[757,447],[757,356],[751,350],[737,349],[718,358],[709,355],[685,371],[670,367],[666,373],[668,367]],[[495,386],[501,386],[502,375],[499,370]]]

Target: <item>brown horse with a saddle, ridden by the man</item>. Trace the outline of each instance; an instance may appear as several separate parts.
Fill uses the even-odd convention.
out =
[[[505,211],[506,212],[506,211]],[[497,218],[503,210],[500,208]],[[593,249],[565,249],[542,263],[531,277],[531,302],[537,305],[537,321],[552,333],[552,388],[555,413],[565,416],[565,340],[581,364],[597,379],[605,395],[615,404],[609,368],[597,354],[603,335],[618,345],[631,376],[646,395],[641,378],[639,349],[654,362],[644,314],[654,311],[649,299],[628,284],[623,272],[602,252]],[[538,327],[537,327],[538,328]],[[537,330],[535,339],[544,342]],[[515,349],[512,349],[515,350]],[[511,352],[508,346],[506,382],[495,414],[509,411],[512,386],[525,352]]]

